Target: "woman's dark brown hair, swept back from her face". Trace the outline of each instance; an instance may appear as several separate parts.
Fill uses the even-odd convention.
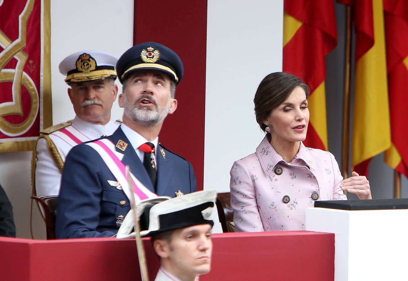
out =
[[[255,93],[254,104],[256,121],[264,132],[264,121],[271,111],[282,104],[296,87],[305,91],[306,98],[309,96],[309,87],[295,75],[274,72],[262,79]]]

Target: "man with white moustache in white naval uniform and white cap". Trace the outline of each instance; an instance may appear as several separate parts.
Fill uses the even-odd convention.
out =
[[[120,122],[111,121],[118,94],[115,64],[118,59],[102,51],[82,51],[59,65],[70,86],[68,96],[75,118],[40,131],[33,153],[33,194],[58,195],[61,172],[69,150],[77,144],[111,135]]]

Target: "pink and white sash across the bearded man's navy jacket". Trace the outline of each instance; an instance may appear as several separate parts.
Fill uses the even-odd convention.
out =
[[[131,189],[126,180],[125,165],[122,163],[122,158],[124,155],[116,152],[115,144],[113,144],[113,142],[111,142],[109,139],[99,139],[89,142],[86,145],[91,146],[99,153],[106,166],[108,166],[113,176],[115,176],[118,183],[120,183],[122,186],[127,198],[129,201],[131,201]],[[137,204],[140,200],[157,197],[156,194],[144,186],[143,183],[141,183],[132,173],[130,174],[133,182],[133,192],[135,193],[135,204]]]

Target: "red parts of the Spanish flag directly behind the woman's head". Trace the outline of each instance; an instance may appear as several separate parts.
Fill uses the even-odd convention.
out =
[[[337,45],[334,3],[285,0],[284,10],[303,24],[283,48],[283,71],[301,78],[313,94],[326,78],[325,57]],[[312,124],[305,145],[326,150]]]

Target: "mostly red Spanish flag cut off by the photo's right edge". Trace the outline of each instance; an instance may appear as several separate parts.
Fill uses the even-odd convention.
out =
[[[408,177],[408,2],[384,0],[391,148],[384,160]]]

